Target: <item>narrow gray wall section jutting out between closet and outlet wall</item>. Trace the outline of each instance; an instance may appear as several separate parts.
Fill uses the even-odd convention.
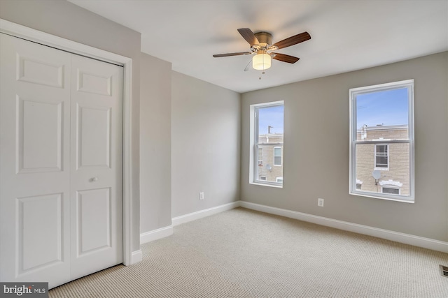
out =
[[[171,68],[141,54],[141,233],[171,225]]]

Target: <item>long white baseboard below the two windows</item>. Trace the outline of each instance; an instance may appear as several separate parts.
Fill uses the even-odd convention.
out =
[[[367,225],[358,225],[357,223],[349,223],[346,221],[338,221],[332,218],[326,218],[323,216],[316,216],[306,214],[297,211],[290,211],[287,209],[280,209],[276,207],[269,207],[262,204],[254,204],[251,202],[239,201],[239,206],[256,211],[262,211],[269,214],[276,214],[279,216],[285,216],[288,218],[295,218],[300,221],[307,221],[309,223],[316,223],[318,225],[325,225],[331,228],[337,228],[339,230],[346,230],[349,232],[356,232],[359,234],[366,234],[373,237],[387,239],[402,244],[410,244],[413,246],[419,246],[423,248],[432,249],[433,251],[442,251],[448,253],[448,242],[414,236],[412,234],[405,234],[400,232],[394,232],[391,230],[383,230],[379,228],[372,228]]]

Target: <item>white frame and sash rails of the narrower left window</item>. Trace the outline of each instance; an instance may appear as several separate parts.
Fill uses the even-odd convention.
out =
[[[274,188],[283,188],[283,183],[274,182],[274,181],[262,181],[258,179],[258,143],[255,142],[255,138],[258,136],[258,109],[262,107],[275,107],[278,105],[283,105],[284,108],[284,101],[283,100],[277,100],[269,103],[256,103],[249,106],[249,112],[250,112],[250,132],[249,132],[249,184],[255,184],[260,186],[270,186]],[[284,122],[284,112],[283,112],[283,122]],[[283,131],[283,137],[284,137],[284,131]],[[284,139],[283,139],[284,142]],[[269,146],[272,147],[283,147],[283,143],[272,143],[269,144]],[[283,157],[283,149],[281,150],[281,154]],[[274,166],[274,163],[272,163],[272,166]],[[276,165],[277,166],[277,165]]]

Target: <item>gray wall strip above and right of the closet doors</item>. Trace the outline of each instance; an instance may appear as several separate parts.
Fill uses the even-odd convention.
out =
[[[132,58],[132,251],[139,250],[140,33],[67,1],[1,0],[0,18]]]

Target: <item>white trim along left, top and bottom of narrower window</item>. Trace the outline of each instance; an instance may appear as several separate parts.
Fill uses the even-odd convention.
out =
[[[258,165],[258,151],[255,149],[255,124],[257,119],[255,119],[255,110],[258,107],[269,107],[275,105],[284,105],[283,100],[273,101],[269,103],[257,103],[254,105],[250,105],[249,107],[249,184],[260,185],[260,186],[268,186],[274,188],[283,188],[283,184],[269,181],[260,181],[257,179],[255,172],[255,164]]]

